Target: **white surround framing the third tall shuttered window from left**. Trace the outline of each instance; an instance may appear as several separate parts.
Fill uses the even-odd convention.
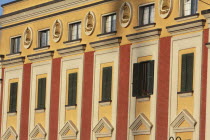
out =
[[[81,111],[82,111],[82,87],[83,87],[83,63],[84,55],[77,55],[73,57],[66,57],[61,60],[61,74],[60,74],[60,101],[59,101],[59,121],[58,131],[65,125],[65,110],[69,110],[66,105],[66,74],[67,70],[78,69],[78,91],[77,91],[77,123],[75,124],[78,128],[78,134],[76,140],[80,140],[80,129],[81,129]],[[73,109],[73,106],[71,106]],[[62,140],[61,136],[58,136],[59,140]]]

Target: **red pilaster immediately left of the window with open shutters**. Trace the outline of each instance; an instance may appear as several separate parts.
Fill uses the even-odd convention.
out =
[[[127,140],[130,45],[120,47],[117,140]]]

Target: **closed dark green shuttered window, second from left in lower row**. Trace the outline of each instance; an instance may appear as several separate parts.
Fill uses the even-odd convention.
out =
[[[45,109],[46,78],[38,79],[37,109]]]

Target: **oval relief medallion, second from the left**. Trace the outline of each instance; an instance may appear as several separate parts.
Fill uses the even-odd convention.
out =
[[[63,33],[63,25],[61,20],[57,19],[53,23],[53,41],[58,42],[61,39],[62,33]]]

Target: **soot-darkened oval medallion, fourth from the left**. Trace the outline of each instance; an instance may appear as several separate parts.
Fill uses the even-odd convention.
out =
[[[120,25],[124,28],[128,27],[128,25],[131,22],[131,18],[132,18],[131,4],[129,2],[124,2],[120,7],[120,16],[119,16]]]

